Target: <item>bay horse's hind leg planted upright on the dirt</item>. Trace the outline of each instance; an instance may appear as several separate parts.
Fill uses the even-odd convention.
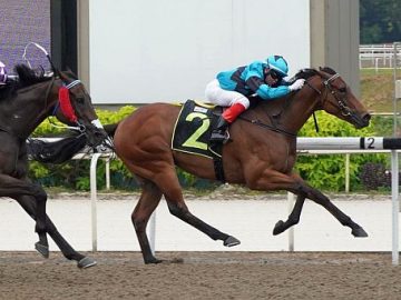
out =
[[[149,240],[146,233],[147,222],[162,199],[162,191],[149,180],[140,179],[143,192],[131,214],[135,232],[138,238],[145,263],[158,263],[151,253]]]

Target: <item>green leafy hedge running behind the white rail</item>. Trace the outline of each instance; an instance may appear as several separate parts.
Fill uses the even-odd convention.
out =
[[[123,107],[118,111],[97,110],[102,124],[115,123],[135,110],[134,107]],[[300,132],[301,137],[372,137],[389,136],[392,120],[390,118],[373,118],[369,128],[356,130],[351,124],[327,113],[317,112],[321,132],[316,133],[311,118]],[[376,130],[378,129],[378,130]],[[46,120],[36,131],[36,137],[59,134],[60,129],[51,127]],[[345,182],[344,156],[299,156],[296,170],[311,186],[330,191],[343,191]],[[365,163],[387,166],[387,154],[352,154],[350,183],[352,190],[364,189],[361,186],[360,172]],[[62,166],[41,164],[31,161],[30,177],[45,187],[62,187],[74,190],[89,190],[89,160],[74,160]],[[97,170],[98,188],[105,187],[105,162],[99,161]],[[178,170],[178,178],[185,188],[211,189],[218,183],[198,179]],[[131,190],[138,186],[120,160],[110,163],[110,180],[115,189]]]

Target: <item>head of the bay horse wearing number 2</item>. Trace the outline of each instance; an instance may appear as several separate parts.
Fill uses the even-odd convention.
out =
[[[371,116],[366,108],[352,93],[350,87],[333,69],[324,67],[320,70],[301,70],[295,79],[303,78],[306,84],[303,89],[311,88],[319,93],[315,110],[324,110],[355,128],[369,126]]]

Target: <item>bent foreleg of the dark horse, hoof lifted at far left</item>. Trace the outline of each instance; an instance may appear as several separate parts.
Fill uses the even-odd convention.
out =
[[[49,244],[46,236],[46,201],[47,193],[38,186],[27,180],[17,179],[8,174],[0,174],[0,197],[16,199],[21,194],[31,196],[36,202],[36,227],[35,231],[39,234],[39,241],[35,244],[36,249],[45,257],[49,256]]]

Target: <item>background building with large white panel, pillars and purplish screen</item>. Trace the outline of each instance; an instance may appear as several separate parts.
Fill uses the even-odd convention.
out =
[[[94,103],[204,99],[221,70],[282,54],[290,74],[330,66],[359,93],[359,1],[0,0],[1,60],[36,41]],[[32,22],[30,22],[32,20]],[[46,58],[36,54],[38,64]],[[45,59],[45,60],[43,60]]]

